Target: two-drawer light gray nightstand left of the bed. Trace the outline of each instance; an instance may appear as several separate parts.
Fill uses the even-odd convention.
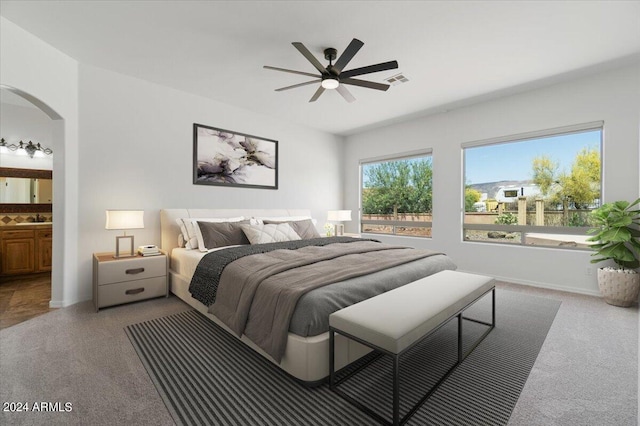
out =
[[[93,255],[93,304],[106,306],[168,296],[167,255],[115,259],[113,253]]]

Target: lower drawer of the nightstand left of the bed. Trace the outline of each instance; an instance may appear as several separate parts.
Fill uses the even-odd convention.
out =
[[[166,295],[166,276],[108,284],[98,287],[98,308]]]

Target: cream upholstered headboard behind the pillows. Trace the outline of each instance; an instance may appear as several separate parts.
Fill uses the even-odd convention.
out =
[[[254,216],[311,216],[306,209],[163,209],[160,210],[161,249],[167,254],[178,247],[180,227],[176,219],[181,217],[236,217]]]

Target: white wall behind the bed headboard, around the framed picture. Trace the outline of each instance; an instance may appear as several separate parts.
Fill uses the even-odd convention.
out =
[[[341,138],[143,80],[81,65],[79,274],[113,251],[105,210],[143,209],[135,244],[160,245],[161,208],[308,208],[321,227],[342,200]],[[194,185],[193,123],[278,141],[278,190]]]

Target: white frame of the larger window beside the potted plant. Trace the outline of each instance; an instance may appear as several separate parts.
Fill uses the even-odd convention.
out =
[[[538,226],[538,225],[502,225],[502,224],[467,224],[465,223],[465,187],[466,187],[466,149],[482,146],[493,146],[500,144],[518,143],[533,139],[543,139],[547,137],[569,135],[573,133],[583,133],[593,130],[600,131],[600,200],[604,200],[604,147],[605,147],[605,126],[604,121],[593,121],[570,126],[555,127],[545,130],[537,130],[532,132],[520,133],[509,136],[500,136],[497,138],[484,139],[479,141],[465,142],[461,144],[462,150],[462,197],[461,197],[461,230],[463,243],[486,243],[500,244],[504,246],[524,246],[524,247],[544,247],[557,248],[562,250],[590,250],[586,247],[574,247],[570,245],[551,245],[551,244],[527,244],[527,233],[548,234],[548,235],[580,235],[587,236],[589,226]],[[504,242],[490,240],[468,240],[466,239],[466,231],[502,231],[520,234],[520,242]]]

